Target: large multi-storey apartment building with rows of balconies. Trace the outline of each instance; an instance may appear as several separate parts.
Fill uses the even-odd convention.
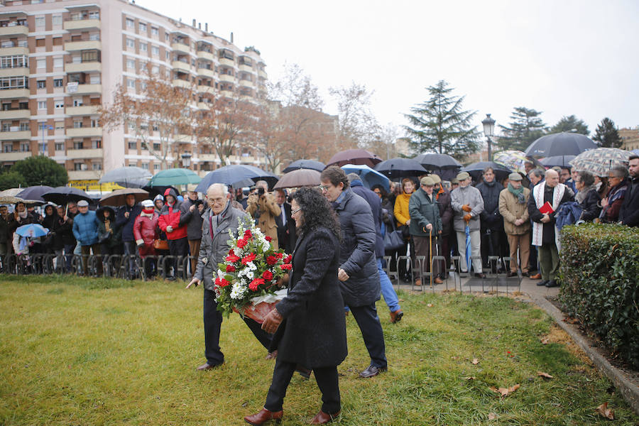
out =
[[[219,96],[259,102],[265,95],[258,50],[238,48],[207,23],[187,25],[124,0],[0,1],[0,167],[48,155],[84,183],[126,165],[160,170],[129,129],[99,124],[99,105],[113,102],[118,84],[140,92],[143,70]],[[210,150],[179,142],[192,153],[192,169],[219,167]],[[246,148],[231,160],[263,163]]]

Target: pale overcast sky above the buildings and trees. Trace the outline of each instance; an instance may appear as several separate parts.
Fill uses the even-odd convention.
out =
[[[254,45],[270,80],[299,64],[327,92],[351,81],[374,89],[381,124],[427,99],[446,80],[476,124],[513,107],[555,124],[574,114],[591,133],[603,117],[639,124],[639,1],[195,1],[137,0],[191,23],[209,23],[239,48]]]

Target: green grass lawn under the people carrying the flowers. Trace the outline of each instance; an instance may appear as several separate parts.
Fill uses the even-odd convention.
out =
[[[368,355],[347,318],[339,424],[607,425],[594,414],[604,402],[613,424],[638,424],[536,307],[505,297],[400,297],[398,324],[378,305],[389,370],[376,378],[358,378]],[[242,425],[262,407],[273,372],[237,315],[222,324],[226,364],[195,371],[205,361],[202,290],[179,282],[0,275],[0,342],[2,425]],[[490,390],[515,384],[506,398]],[[314,378],[296,375],[283,425],[306,424],[319,408]]]

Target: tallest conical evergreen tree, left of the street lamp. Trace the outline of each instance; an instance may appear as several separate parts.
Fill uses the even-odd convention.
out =
[[[411,150],[437,151],[455,158],[479,151],[480,133],[471,124],[476,111],[462,109],[465,97],[453,96],[454,89],[444,80],[427,89],[430,99],[412,107],[412,114],[404,114],[410,122],[403,129],[411,139]]]

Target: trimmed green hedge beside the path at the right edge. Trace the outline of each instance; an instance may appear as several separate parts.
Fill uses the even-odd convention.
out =
[[[559,299],[613,354],[639,368],[639,229],[562,229]]]

